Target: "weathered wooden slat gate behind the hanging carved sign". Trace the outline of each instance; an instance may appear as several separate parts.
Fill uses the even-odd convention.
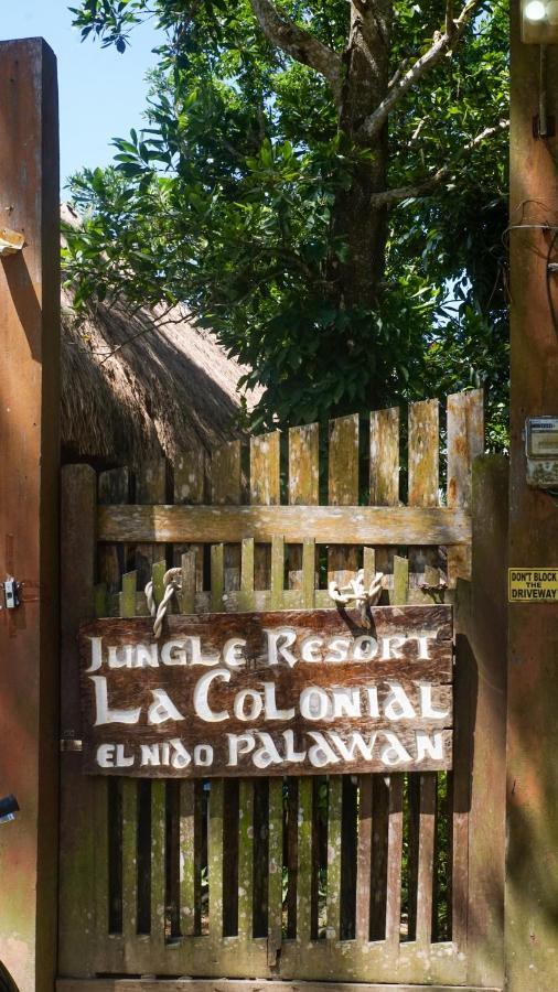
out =
[[[389,409],[365,436],[357,417],[332,421],[328,445],[316,424],[253,438],[249,464],[234,442],[208,464],[185,453],[172,477],[164,462],[64,470],[61,990],[141,977],[502,988],[504,479],[481,459],[473,500],[482,405],[480,391],[448,400],[446,499],[437,401],[411,405],[401,431]],[[170,564],[181,613],[333,606],[328,579],[362,567],[385,573],[383,603],[453,603],[453,773],[84,776],[77,625],[146,615],[143,586],[152,576],[160,597]]]

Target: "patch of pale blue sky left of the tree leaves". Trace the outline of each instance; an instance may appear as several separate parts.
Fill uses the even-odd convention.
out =
[[[42,35],[58,60],[61,185],[83,166],[107,165],[112,138],[141,128],[148,86],[155,65],[151,50],[160,42],[144,24],[124,55],[101,48],[90,36],[83,44],[72,28],[68,4],[77,0],[0,0],[0,40]],[[64,198],[64,188],[62,190]]]

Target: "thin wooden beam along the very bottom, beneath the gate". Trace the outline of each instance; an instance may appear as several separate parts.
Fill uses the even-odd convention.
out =
[[[56,992],[457,992],[455,985],[369,982],[250,981],[248,979],[58,979]],[[459,985],[459,992],[502,992],[501,988]]]

